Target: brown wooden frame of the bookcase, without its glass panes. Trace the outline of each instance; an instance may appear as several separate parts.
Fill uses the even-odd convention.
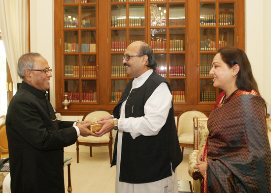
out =
[[[186,75],[185,77],[166,77],[167,80],[185,80],[186,88],[186,102],[174,103],[175,114],[183,110],[198,109],[206,113],[210,113],[215,102],[200,102],[200,75],[199,75],[199,63],[200,54],[215,54],[216,51],[202,52],[200,51],[200,3],[235,3],[235,46],[244,50],[245,35],[244,35],[244,0],[166,0],[166,1],[136,1],[136,2],[111,2],[110,0],[96,0],[96,29],[97,29],[97,79],[80,78],[80,80],[97,80],[97,102],[74,102],[70,103],[68,110],[64,110],[62,102],[64,101],[64,0],[55,0],[55,82],[56,82],[56,110],[63,115],[83,115],[90,110],[104,109],[113,110],[117,102],[111,102],[111,80],[127,80],[131,79],[128,76],[124,78],[111,77],[111,30],[112,29],[126,29],[126,41],[128,42],[128,30],[129,29],[145,29],[145,41],[150,44],[150,28],[159,28],[150,26],[150,4],[157,3],[185,3],[185,26],[181,27],[163,27],[168,31],[174,28],[185,28],[185,51],[178,52],[177,54],[185,54]],[[81,1],[81,0],[79,0]],[[129,0],[127,0],[129,1]],[[74,6],[79,6],[81,3],[72,3]],[[84,5],[92,5],[93,3],[84,3]],[[145,26],[144,27],[110,27],[110,6],[111,4],[145,4]],[[71,5],[71,4],[67,4]],[[65,4],[66,6],[66,4]],[[126,16],[128,15],[128,8],[126,7]],[[167,12],[169,13],[169,6],[167,6]],[[79,10],[80,15],[80,10]],[[81,16],[79,16],[80,18]],[[216,7],[216,18],[218,20],[218,7]],[[169,17],[167,17],[167,23],[169,24]],[[222,28],[221,26],[211,26],[205,28]],[[230,27],[225,27],[230,28]],[[93,28],[87,28],[89,30]],[[72,30],[72,29],[70,29]],[[80,31],[80,29],[75,28]],[[218,32],[216,33],[218,34]],[[216,35],[216,41],[218,41],[218,35]],[[80,44],[80,39],[78,40]],[[167,33],[167,48],[169,49],[169,32]],[[124,53],[124,52],[123,52]],[[174,53],[174,52],[172,52]],[[116,52],[116,54],[121,54]],[[155,52],[160,54],[160,52]],[[169,50],[167,52],[161,52],[161,54],[171,54]],[[78,55],[80,57],[80,53]],[[169,67],[169,57],[167,57],[167,65]],[[167,69],[169,71],[169,69]],[[168,73],[169,74],[169,73]],[[79,79],[79,78],[78,78]],[[71,80],[74,80],[71,78]],[[76,79],[77,80],[77,79]],[[79,90],[81,92],[81,88]],[[216,89],[216,98],[218,97],[218,89]]]

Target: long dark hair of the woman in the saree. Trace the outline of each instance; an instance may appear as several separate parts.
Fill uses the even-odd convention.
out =
[[[218,49],[217,54],[218,53],[230,68],[235,64],[239,65],[240,70],[236,80],[237,88],[249,92],[254,89],[260,95],[258,85],[252,74],[250,62],[245,52],[236,47],[222,47]]]

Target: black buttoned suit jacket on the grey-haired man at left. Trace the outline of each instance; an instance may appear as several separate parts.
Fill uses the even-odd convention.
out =
[[[58,121],[45,92],[23,82],[6,114],[12,193],[64,193],[63,147],[73,122]]]

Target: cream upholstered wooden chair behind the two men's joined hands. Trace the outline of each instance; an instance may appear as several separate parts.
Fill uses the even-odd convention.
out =
[[[83,117],[84,120],[90,120],[92,122],[96,122],[99,118],[107,115],[111,115],[112,113],[107,110],[92,110],[85,114]],[[108,145],[109,148],[109,157],[110,157],[110,164],[112,162],[112,144],[113,144],[113,137],[112,133],[109,132],[104,134],[102,137],[97,138],[94,136],[82,137],[79,136],[76,141],[76,154],[77,154],[77,163],[79,163],[79,145],[85,145],[90,147],[90,157],[92,157],[92,147],[93,146],[104,146]]]

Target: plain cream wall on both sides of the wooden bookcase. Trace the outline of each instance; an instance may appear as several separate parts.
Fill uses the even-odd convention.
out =
[[[270,0],[245,0],[245,52],[259,89],[266,101],[271,104],[271,20],[269,19]],[[54,64],[54,0],[30,0],[31,52],[43,55],[52,69]],[[55,79],[50,81],[50,101],[55,107]],[[63,116],[63,120],[81,120],[81,116]],[[89,152],[89,148],[81,147]],[[103,151],[108,151],[103,148]],[[72,145],[66,151],[75,151]],[[95,151],[95,150],[94,150]]]

